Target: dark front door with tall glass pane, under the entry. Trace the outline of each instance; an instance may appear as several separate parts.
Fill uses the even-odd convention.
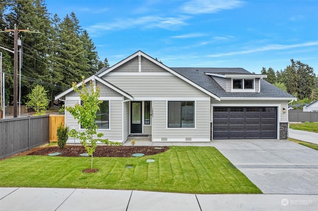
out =
[[[131,133],[142,133],[142,102],[131,102]]]

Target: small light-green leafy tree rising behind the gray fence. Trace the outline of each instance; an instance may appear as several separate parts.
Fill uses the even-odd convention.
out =
[[[46,91],[43,86],[37,85],[32,89],[32,92],[27,95],[29,101],[25,105],[33,107],[36,111],[35,115],[45,114],[45,109],[49,105],[47,92],[48,91]]]

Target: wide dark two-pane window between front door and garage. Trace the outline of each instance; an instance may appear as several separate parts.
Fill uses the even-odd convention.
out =
[[[194,127],[194,101],[169,101],[168,127]]]

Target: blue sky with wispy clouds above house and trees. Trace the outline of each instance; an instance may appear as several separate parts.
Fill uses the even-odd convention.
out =
[[[99,57],[114,65],[139,50],[169,67],[285,69],[318,74],[318,0],[46,0],[75,12]]]

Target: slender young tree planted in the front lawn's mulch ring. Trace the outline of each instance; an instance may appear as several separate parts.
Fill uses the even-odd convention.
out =
[[[93,169],[93,153],[97,147],[96,142],[101,141],[99,138],[103,136],[102,133],[96,132],[97,125],[95,123],[96,112],[99,110],[99,104],[102,101],[98,100],[100,89],[97,86],[94,88],[93,82],[90,81],[90,91],[88,91],[85,83],[84,77],[82,77],[81,89],[77,87],[77,83],[73,83],[74,91],[79,93],[79,98],[81,105],[77,104],[74,107],[66,107],[66,110],[69,111],[74,118],[78,119],[78,123],[81,125],[85,131],[79,132],[75,129],[72,129],[69,133],[71,137],[79,138],[80,143],[83,145],[85,150],[88,152],[88,155],[91,156],[91,169]],[[97,134],[97,139],[94,139],[93,136]]]

